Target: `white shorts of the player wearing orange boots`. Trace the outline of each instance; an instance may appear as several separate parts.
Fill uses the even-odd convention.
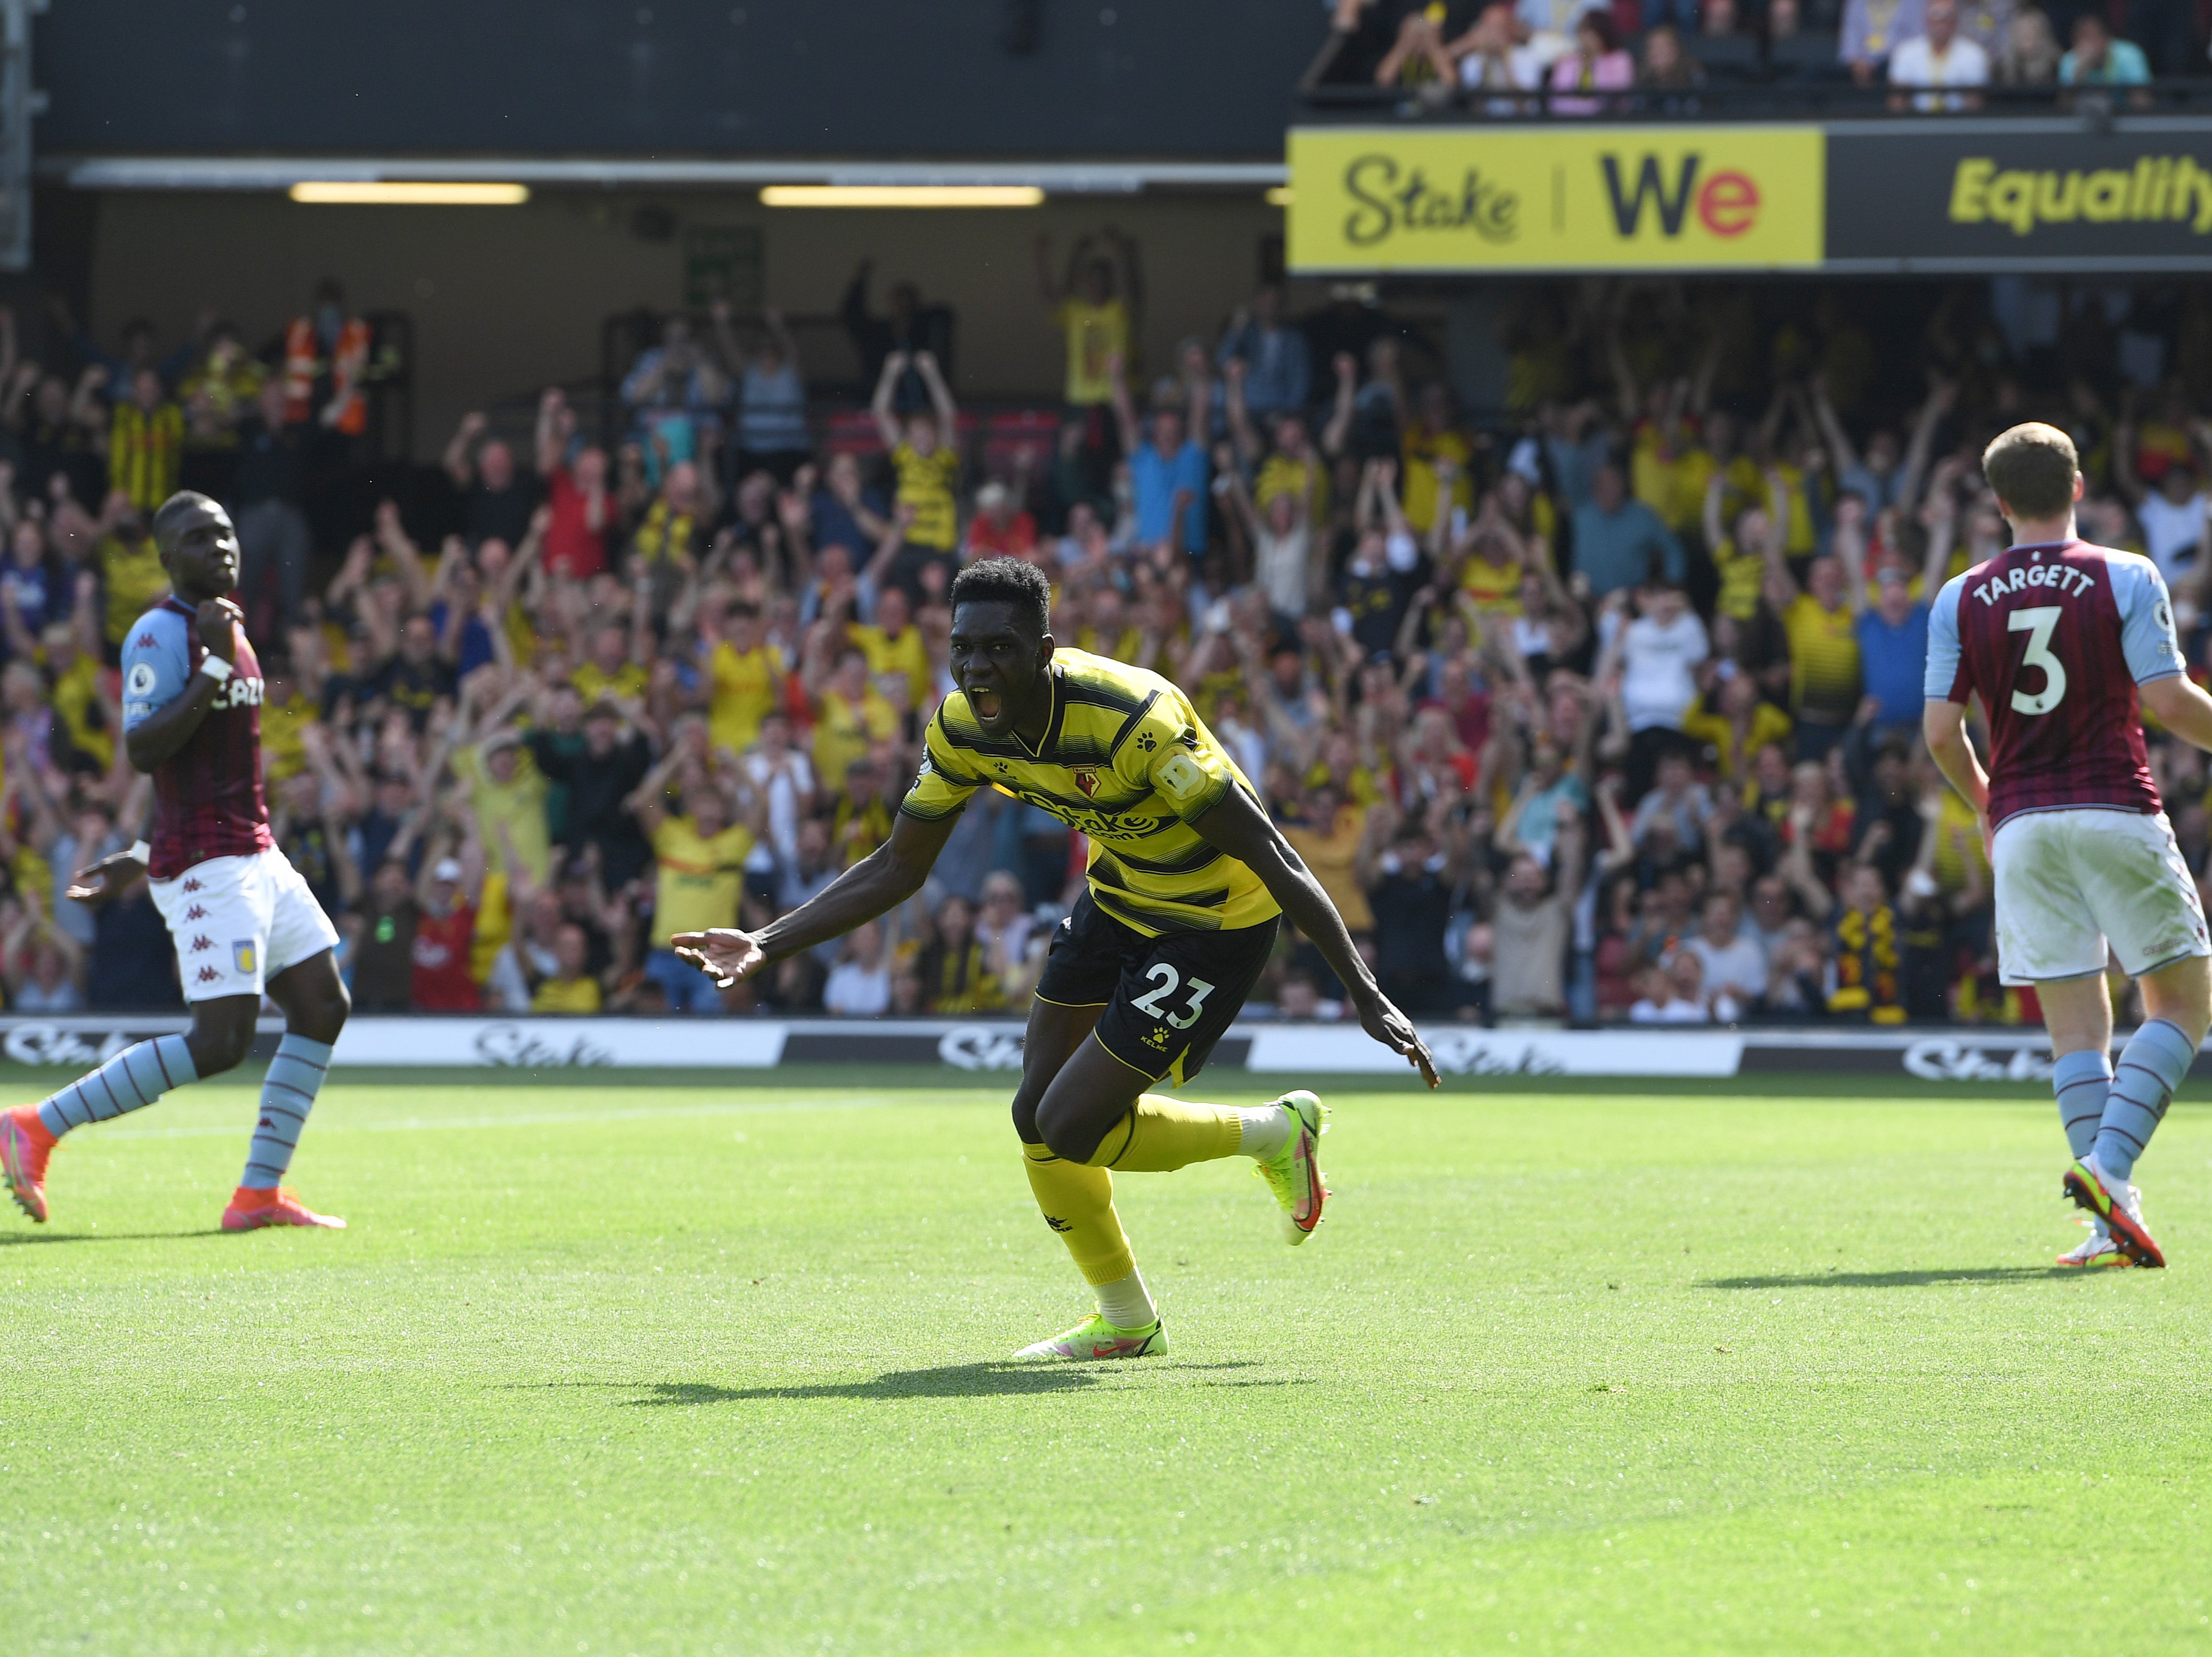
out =
[[[338,929],[283,852],[208,858],[148,887],[177,940],[188,1002],[259,996],[285,967],[338,945]]]

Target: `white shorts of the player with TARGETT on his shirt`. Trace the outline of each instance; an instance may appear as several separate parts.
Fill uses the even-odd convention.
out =
[[[2212,956],[2197,876],[2163,814],[2026,812],[2004,821],[1993,852],[2006,984],[2104,971],[2106,945],[2128,978]]]

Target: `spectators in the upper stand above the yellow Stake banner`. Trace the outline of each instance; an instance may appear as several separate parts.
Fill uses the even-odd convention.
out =
[[[2183,0],[1329,0],[1323,80],[1528,115],[1694,113],[1705,86],[1909,88],[1893,108],[1971,111],[1986,86],[2139,86],[2203,75]],[[1593,97],[1593,93],[1597,97]]]

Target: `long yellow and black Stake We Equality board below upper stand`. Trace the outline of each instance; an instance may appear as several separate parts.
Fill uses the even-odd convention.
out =
[[[2212,122],[1290,135],[1303,274],[2212,270]]]

